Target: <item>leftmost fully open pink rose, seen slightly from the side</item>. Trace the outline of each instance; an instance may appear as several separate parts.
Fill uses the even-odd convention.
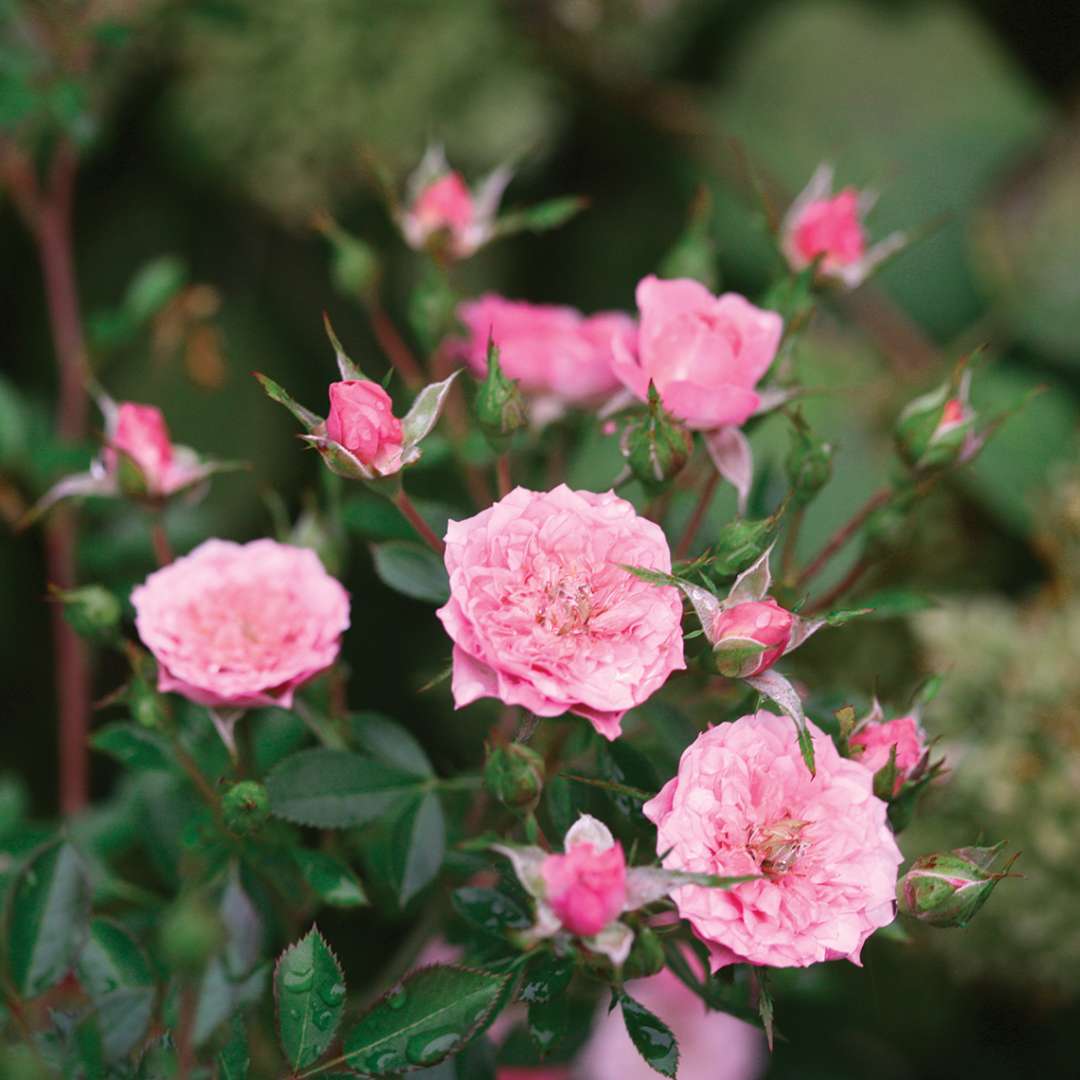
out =
[[[158,688],[211,707],[288,708],[334,663],[349,595],[306,548],[206,540],[132,592]]]

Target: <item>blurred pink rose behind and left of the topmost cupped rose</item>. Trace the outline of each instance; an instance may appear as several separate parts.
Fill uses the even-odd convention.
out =
[[[554,404],[594,402],[619,386],[611,373],[612,340],[633,349],[637,329],[617,311],[583,315],[573,308],[525,303],[487,294],[458,308],[469,332],[461,351],[476,375],[487,372],[487,342],[499,347],[499,363],[534,397]]]

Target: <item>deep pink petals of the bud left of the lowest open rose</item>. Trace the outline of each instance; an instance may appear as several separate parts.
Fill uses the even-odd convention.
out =
[[[576,843],[565,855],[548,855],[541,867],[548,903],[571,934],[591,937],[618,918],[626,902],[622,845],[597,851]]]

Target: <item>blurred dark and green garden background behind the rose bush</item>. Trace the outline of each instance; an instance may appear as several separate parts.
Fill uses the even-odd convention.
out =
[[[828,160],[841,184],[880,191],[875,234],[927,227],[869,287],[826,306],[801,347],[804,380],[836,391],[808,413],[839,453],[800,550],[815,550],[880,483],[899,408],[963,352],[989,347],[976,406],[1045,391],[933,496],[876,581],[914,580],[937,607],[833,642],[822,635],[802,664],[825,689],[877,687],[896,705],[921,674],[944,672],[926,725],[955,775],[930,794],[932,813],[905,834],[904,849],[1001,837],[1024,850],[1027,879],[999,889],[967,932],[875,943],[862,972],[829,964],[778,980],[788,1041],[770,1076],[1071,1075],[1080,1023],[1075,0],[160,6],[168,9],[160,27],[125,53],[92,133],[77,258],[84,312],[103,334],[140,267],[168,255],[186,268],[189,289],[151,335],[110,350],[99,373],[113,396],[162,406],[178,442],[253,463],[251,474],[217,481],[197,509],[173,512],[180,549],[207,535],[269,531],[267,492],[295,514],[318,490],[316,460],[299,453],[294,424],[258,391],[253,368],[320,408],[333,372],[325,308],[365,369],[386,369],[363,309],[335,288],[315,212],[379,248],[387,305],[407,325],[418,265],[395,238],[362,150],[404,175],[436,137],[467,175],[516,160],[511,204],[586,195],[588,213],[563,230],[503,243],[458,278],[465,292],[584,310],[633,307],[635,283],[654,270],[703,184],[725,287],[759,295],[777,265],[751,168],[783,205]],[[0,512],[11,521],[41,470],[57,463],[45,434],[54,363],[33,249],[6,202],[0,251]],[[755,434],[766,472],[785,448],[779,421]],[[615,471],[611,447],[594,441],[571,476],[606,487]],[[415,487],[450,510],[463,504],[437,473],[419,472]],[[715,519],[730,511],[718,503]],[[137,514],[87,507],[81,519],[84,580],[124,588],[151,568]],[[415,693],[447,653],[430,609],[380,585],[362,546],[346,578],[351,704],[403,719],[443,764],[474,759],[481,726],[467,718],[448,729],[443,702]],[[44,591],[40,534],[0,525],[0,765],[26,779],[37,813],[51,814]],[[387,631],[406,623],[407,648]],[[121,674],[100,666],[97,692]],[[100,795],[116,777],[100,759],[94,769]]]

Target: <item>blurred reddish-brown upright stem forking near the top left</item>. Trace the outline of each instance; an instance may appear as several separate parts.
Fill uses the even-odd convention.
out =
[[[86,347],[75,274],[71,208],[78,171],[76,148],[62,139],[52,154],[48,176],[39,178],[18,148],[0,146],[0,166],[24,224],[33,238],[49,310],[49,325],[59,377],[55,430],[75,442],[86,432]],[[49,580],[70,589],[76,580],[76,530],[70,510],[53,516],[45,531]],[[59,713],[60,810],[73,814],[86,805],[90,758],[91,683],[86,647],[57,607],[51,615],[57,710]]]

